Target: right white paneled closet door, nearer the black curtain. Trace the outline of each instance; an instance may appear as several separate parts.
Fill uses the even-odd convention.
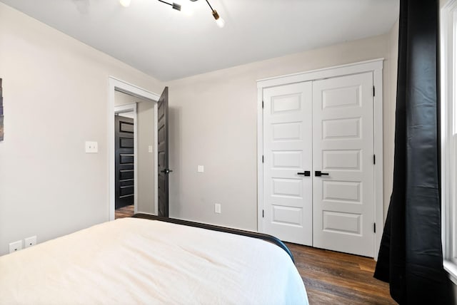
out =
[[[373,74],[313,82],[314,247],[373,257],[373,175]]]

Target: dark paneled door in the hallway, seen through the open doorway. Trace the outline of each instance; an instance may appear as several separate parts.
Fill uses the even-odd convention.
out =
[[[134,205],[134,120],[114,117],[116,147],[116,209]]]

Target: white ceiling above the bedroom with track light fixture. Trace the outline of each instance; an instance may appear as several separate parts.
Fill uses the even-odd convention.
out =
[[[161,81],[387,33],[399,0],[0,0]]]

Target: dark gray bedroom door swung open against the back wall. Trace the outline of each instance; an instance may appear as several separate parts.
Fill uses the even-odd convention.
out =
[[[169,88],[165,87],[164,92],[157,103],[157,157],[159,176],[157,177],[159,190],[159,211],[161,217],[169,217]]]

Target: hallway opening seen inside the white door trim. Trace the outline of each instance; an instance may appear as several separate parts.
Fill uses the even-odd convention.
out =
[[[156,214],[154,101],[114,93],[114,218]]]

